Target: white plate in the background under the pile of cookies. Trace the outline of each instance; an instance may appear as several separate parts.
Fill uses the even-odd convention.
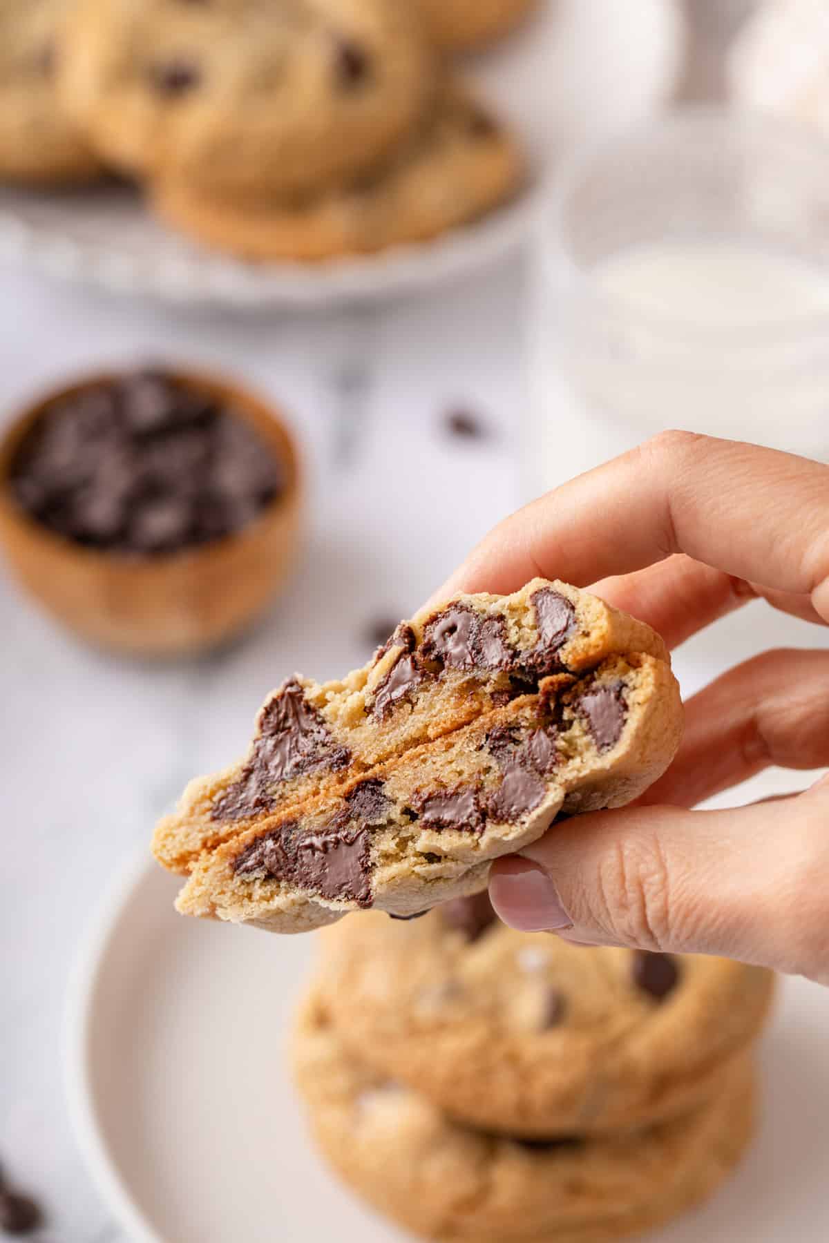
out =
[[[670,91],[674,0],[543,0],[536,19],[465,68],[523,135],[538,178],[583,129],[634,121]],[[0,188],[0,255],[119,293],[231,306],[317,306],[410,293],[516,251],[533,195],[434,242],[319,265],[250,265],[168,231],[126,189]]]

